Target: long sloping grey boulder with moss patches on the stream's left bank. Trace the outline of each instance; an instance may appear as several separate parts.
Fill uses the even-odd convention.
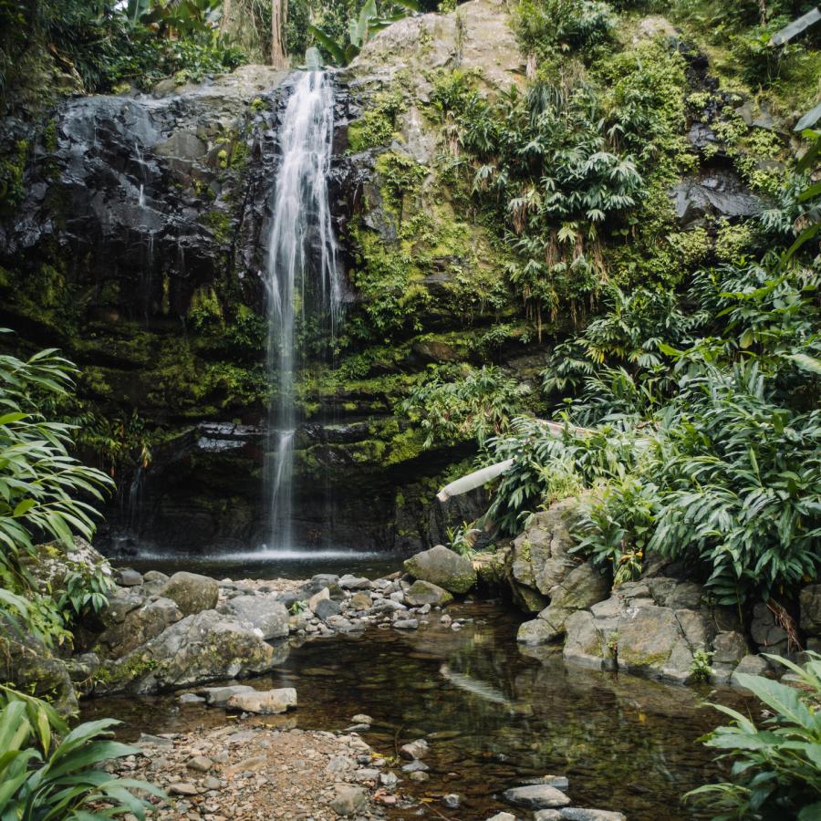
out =
[[[120,660],[104,664],[95,691],[151,693],[271,670],[287,653],[216,610],[186,616]]]

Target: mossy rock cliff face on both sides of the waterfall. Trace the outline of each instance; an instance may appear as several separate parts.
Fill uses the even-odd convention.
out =
[[[637,36],[670,35],[657,28]],[[706,61],[687,59],[704,110],[730,105]],[[526,68],[506,5],[471,0],[390,26],[335,76],[330,190],[348,305],[334,368],[310,327],[302,340],[295,508],[306,544],[333,534],[412,550],[472,520],[476,500],[447,514],[431,504],[470,449],[424,450],[396,403],[431,365],[493,361],[533,379],[562,331],[566,317],[543,335],[525,316],[441,105],[454,78],[493,99],[524,87]],[[0,128],[4,179],[16,181],[0,192],[0,324],[17,331],[16,348],[57,345],[78,363],[79,400],[61,410],[120,481],[104,546],[264,539],[261,272],[291,88],[286,73],[249,66],[151,95],[68,99],[36,127]],[[705,225],[759,203],[699,116],[687,123],[699,170],[668,205],[675,236],[709,251]]]

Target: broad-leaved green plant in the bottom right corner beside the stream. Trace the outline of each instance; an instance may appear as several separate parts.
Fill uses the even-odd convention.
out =
[[[739,682],[772,711],[759,729],[746,716],[722,704],[716,710],[732,724],[706,736],[708,747],[731,759],[730,781],[692,790],[684,797],[717,812],[715,821],[796,818],[814,821],[821,816],[821,656],[808,653],[803,667],[780,656],[799,678],[800,690],[778,681],[739,673]]]

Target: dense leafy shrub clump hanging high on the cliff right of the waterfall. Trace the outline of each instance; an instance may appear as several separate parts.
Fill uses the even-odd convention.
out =
[[[609,150],[595,89],[539,80],[489,103],[462,75],[440,81],[432,103],[453,126],[452,151],[473,155],[473,195],[499,228],[528,316],[540,328],[568,304],[575,317],[605,279],[601,235],[642,191],[632,159]]]

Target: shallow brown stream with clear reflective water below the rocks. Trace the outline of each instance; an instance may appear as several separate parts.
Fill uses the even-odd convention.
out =
[[[499,601],[467,601],[448,613],[471,620],[455,631],[433,612],[430,624],[410,633],[369,629],[292,642],[280,667],[249,683],[262,690],[296,687],[299,706],[253,721],[336,731],[367,713],[374,723],[362,737],[388,756],[402,743],[426,738],[430,780],[405,779],[402,788],[419,798],[462,795],[462,807],[448,817],[491,816],[505,808],[504,789],[545,774],[569,778],[574,805],[618,810],[632,821],[700,817],[681,805],[681,795],[720,774],[698,741],[721,722],[704,701],[720,698],[739,707],[744,699],[737,691],[672,687],[568,666],[556,648],[520,648],[515,634],[525,617]],[[119,718],[126,741],[241,721],[222,710],[181,705],[178,697],[96,699],[85,702],[84,713]],[[388,812],[409,815],[407,809]]]

